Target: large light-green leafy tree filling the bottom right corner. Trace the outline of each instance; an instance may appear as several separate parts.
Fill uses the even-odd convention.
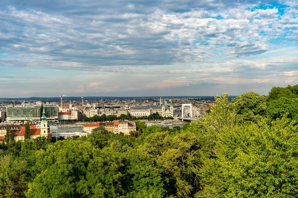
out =
[[[196,197],[296,197],[298,127],[283,118],[223,130],[198,169],[203,191]]]

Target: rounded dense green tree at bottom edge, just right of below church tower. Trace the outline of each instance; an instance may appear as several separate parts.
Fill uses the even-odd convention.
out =
[[[96,151],[88,142],[59,141],[36,152],[37,176],[29,183],[28,198],[84,197],[87,167]]]

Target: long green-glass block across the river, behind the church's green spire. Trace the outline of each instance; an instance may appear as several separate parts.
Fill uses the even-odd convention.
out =
[[[28,105],[7,107],[6,121],[21,122],[21,121],[40,121],[43,108],[46,111],[47,120],[58,120],[58,106],[56,105]]]

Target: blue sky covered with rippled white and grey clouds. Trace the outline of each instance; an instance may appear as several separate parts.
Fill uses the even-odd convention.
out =
[[[298,84],[298,0],[1,0],[0,98]]]

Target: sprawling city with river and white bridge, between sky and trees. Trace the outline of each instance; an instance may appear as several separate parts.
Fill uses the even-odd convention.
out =
[[[60,101],[52,102],[3,99],[0,100],[0,141],[3,143],[7,127],[14,133],[16,142],[24,140],[25,123],[30,124],[31,139],[44,136],[81,137],[99,126],[104,126],[111,133],[130,135],[137,131],[134,122],[137,120],[146,121],[148,126],[183,126],[187,121],[206,114],[214,103],[214,99],[210,98],[84,100],[81,97],[81,100],[67,100],[61,96]],[[42,133],[43,116],[46,133]],[[64,132],[58,133],[56,129]]]

